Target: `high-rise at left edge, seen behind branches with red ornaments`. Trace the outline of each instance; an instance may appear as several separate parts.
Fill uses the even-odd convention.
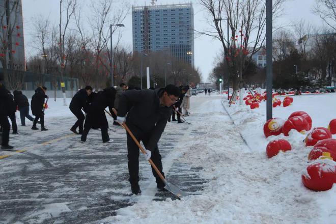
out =
[[[7,68],[25,70],[22,4],[19,0],[0,0],[2,20],[0,57],[7,57]],[[11,33],[12,35],[8,35]],[[4,48],[7,47],[7,48]],[[10,63],[12,62],[12,64]],[[0,61],[0,67],[5,67]]]

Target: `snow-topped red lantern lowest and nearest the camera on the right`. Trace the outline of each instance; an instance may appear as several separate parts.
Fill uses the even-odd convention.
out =
[[[313,163],[307,167],[301,179],[303,185],[311,190],[329,190],[336,183],[336,163],[328,159],[325,159],[325,163]]]

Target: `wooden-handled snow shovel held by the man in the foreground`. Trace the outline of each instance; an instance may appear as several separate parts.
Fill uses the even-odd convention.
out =
[[[115,108],[112,109],[113,112],[115,113],[115,115],[117,115],[117,110]],[[108,113],[109,114],[109,113]],[[144,150],[144,148],[140,145],[140,143],[137,141],[137,139],[135,138],[135,136],[133,135],[133,133],[131,132],[131,130],[128,128],[128,126],[126,125],[126,123],[124,122],[123,124],[121,124],[121,126],[127,131],[127,133],[132,137],[133,141],[135,142],[135,144],[139,147],[139,149],[141,150],[142,153],[146,154],[146,151]],[[163,175],[161,174],[161,172],[157,169],[156,165],[154,164],[154,162],[152,161],[152,159],[148,160],[149,163],[152,165],[153,169],[155,170],[155,172],[157,173],[157,175],[159,175],[160,179],[163,181],[163,183],[165,184],[164,188],[170,192],[172,192],[174,195],[176,195],[177,198],[181,199],[182,197],[186,197],[188,196],[188,194],[182,190],[180,190],[178,187],[174,186],[173,184],[167,182],[165,180],[165,178],[163,177]]]

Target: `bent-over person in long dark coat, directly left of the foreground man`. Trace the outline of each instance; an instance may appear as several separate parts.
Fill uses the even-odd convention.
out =
[[[80,138],[82,143],[87,141],[87,135],[91,128],[100,128],[103,143],[110,142],[107,132],[108,122],[104,109],[108,107],[110,113],[113,113],[112,108],[114,107],[116,92],[117,91],[115,88],[110,87],[95,94],[94,98],[92,99],[92,103],[88,106],[87,109],[84,130]]]

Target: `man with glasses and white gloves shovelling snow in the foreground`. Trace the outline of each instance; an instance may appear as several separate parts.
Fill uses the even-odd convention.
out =
[[[180,90],[174,85],[157,90],[129,90],[120,96],[117,121],[126,124],[138,141],[145,145],[146,159],[150,158],[162,172],[161,155],[157,143],[171,116],[171,106],[178,99]],[[131,107],[129,105],[132,105]],[[127,158],[131,190],[134,194],[141,193],[139,181],[139,148],[127,133]],[[163,189],[164,183],[152,169],[156,178],[157,188]]]

